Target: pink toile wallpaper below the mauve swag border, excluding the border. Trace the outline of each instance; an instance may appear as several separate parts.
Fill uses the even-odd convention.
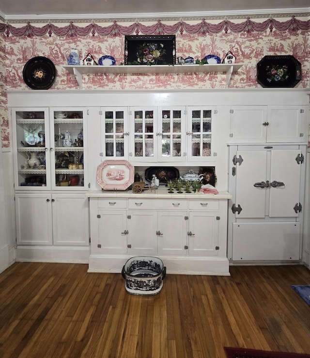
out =
[[[308,23],[307,21],[306,23]],[[309,24],[308,24],[309,25]],[[202,59],[215,54],[221,59],[228,51],[236,56],[236,63],[244,65],[233,73],[230,88],[259,88],[256,79],[256,64],[265,55],[293,55],[302,64],[302,81],[298,88],[310,87],[310,29],[279,31],[220,31],[217,33],[176,32],[176,57],[187,56]],[[227,30],[227,29],[226,29]],[[31,89],[22,77],[25,63],[35,56],[48,57],[56,66],[57,77],[50,90],[75,90],[78,83],[73,74],[62,66],[67,65],[64,53],[76,48],[80,56],[91,53],[95,60],[102,55],[111,55],[116,65],[124,62],[124,35],[100,35],[93,32],[84,36],[66,34],[59,36],[46,33],[42,36],[17,36],[0,33],[0,125],[2,147],[10,147],[9,123],[5,90]],[[84,89],[212,89],[225,88],[226,78],[222,73],[194,74],[93,74],[83,76]]]

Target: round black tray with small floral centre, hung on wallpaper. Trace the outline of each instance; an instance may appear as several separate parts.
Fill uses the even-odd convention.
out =
[[[33,57],[24,66],[23,79],[32,89],[48,89],[55,78],[55,65],[47,57]]]

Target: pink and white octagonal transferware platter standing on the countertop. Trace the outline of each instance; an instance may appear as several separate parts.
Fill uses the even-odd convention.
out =
[[[97,166],[97,183],[103,190],[125,190],[134,176],[135,168],[125,160],[105,160]]]

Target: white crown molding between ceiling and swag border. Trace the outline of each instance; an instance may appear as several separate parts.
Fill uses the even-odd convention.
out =
[[[138,16],[137,16],[138,15]],[[264,10],[231,10],[208,12],[173,12],[173,13],[145,13],[145,14],[50,14],[50,15],[5,15],[0,10],[0,19],[11,23],[42,23],[49,22],[126,22],[126,21],[157,21],[158,19],[197,20],[197,19],[223,19],[223,18],[262,18],[262,17],[309,17],[310,7],[289,9],[264,9]]]

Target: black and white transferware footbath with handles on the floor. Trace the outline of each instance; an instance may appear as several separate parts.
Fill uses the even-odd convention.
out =
[[[162,260],[150,256],[136,256],[123,266],[122,276],[128,293],[154,295],[161,291],[166,267]]]

